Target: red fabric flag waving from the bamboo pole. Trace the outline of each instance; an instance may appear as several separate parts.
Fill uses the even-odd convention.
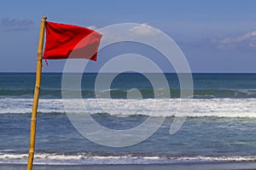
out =
[[[46,22],[43,59],[96,60],[102,34],[81,26]]]

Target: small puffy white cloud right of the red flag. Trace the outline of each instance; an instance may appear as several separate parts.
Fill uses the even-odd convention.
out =
[[[154,29],[148,24],[141,24],[139,26],[134,26],[130,29],[131,34],[138,36],[154,36],[160,33],[159,30]]]

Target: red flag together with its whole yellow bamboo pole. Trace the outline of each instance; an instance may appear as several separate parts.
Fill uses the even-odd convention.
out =
[[[102,38],[102,34],[96,31],[92,31],[85,27],[47,22],[46,36],[47,34],[50,36],[47,37],[48,42],[46,42],[45,44],[43,56],[44,30],[46,19],[46,17],[41,18],[41,27],[39,32],[38,65],[36,74],[36,84],[34,90],[34,101],[32,105],[31,132],[27,170],[32,170],[35,151],[35,137],[37,126],[38,99],[41,86],[42,59],[68,59],[70,51],[76,49],[81,50],[82,48],[84,54],[80,54],[79,52],[76,55],[72,56],[73,59],[91,59],[96,61],[97,50],[99,48],[100,41]],[[70,32],[72,34],[70,34]],[[87,37],[86,41],[83,41],[84,37]],[[63,43],[65,43],[65,47],[63,47]],[[79,48],[76,47],[78,44]]]

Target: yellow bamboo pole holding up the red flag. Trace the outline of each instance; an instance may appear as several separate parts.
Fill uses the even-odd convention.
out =
[[[35,151],[35,137],[36,137],[36,127],[37,127],[37,112],[38,112],[38,99],[40,94],[41,86],[41,72],[42,72],[42,54],[44,45],[44,27],[47,17],[41,18],[41,27],[39,32],[39,42],[38,42],[38,66],[36,75],[36,85],[34,90],[34,101],[32,106],[32,116],[31,116],[31,127],[30,127],[30,144],[29,144],[29,155],[27,161],[27,170],[32,170],[34,151]]]

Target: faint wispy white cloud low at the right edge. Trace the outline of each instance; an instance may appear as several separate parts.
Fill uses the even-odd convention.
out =
[[[218,41],[218,48],[236,47],[256,48],[256,31],[251,31],[237,37],[225,37]]]

